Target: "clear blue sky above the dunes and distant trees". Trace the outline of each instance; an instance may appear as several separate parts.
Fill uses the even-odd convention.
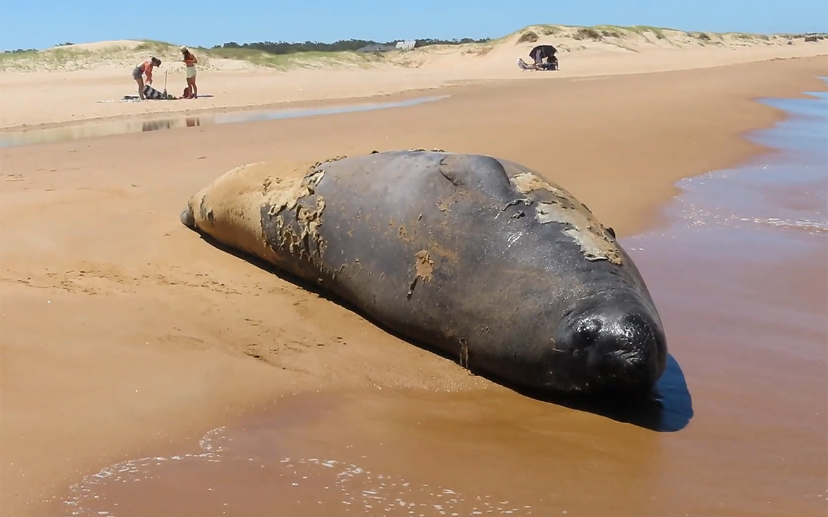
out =
[[[226,41],[480,38],[534,23],[806,32],[828,31],[828,0],[0,0],[0,23],[0,50],[121,39],[212,46]]]

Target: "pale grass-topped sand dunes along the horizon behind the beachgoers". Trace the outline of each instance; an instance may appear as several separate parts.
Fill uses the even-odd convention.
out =
[[[816,42],[819,45],[825,40]],[[526,57],[532,46],[542,43],[556,45],[561,55],[600,55],[651,52],[653,50],[714,50],[751,49],[807,45],[802,36],[786,34],[748,34],[677,31],[649,26],[527,26],[520,31],[487,43],[465,45],[428,45],[412,50],[361,54],[356,52],[312,52],[296,55],[268,55],[250,49],[205,49],[192,47],[201,57],[200,68],[224,69],[352,69],[445,68],[463,63],[468,66],[499,66],[503,60],[513,62],[516,56]],[[6,55],[0,70],[6,71],[70,71],[123,67],[156,55],[172,69],[180,68],[179,45],[158,41],[99,41],[58,45],[36,52]],[[801,50],[802,51],[802,50]]]

